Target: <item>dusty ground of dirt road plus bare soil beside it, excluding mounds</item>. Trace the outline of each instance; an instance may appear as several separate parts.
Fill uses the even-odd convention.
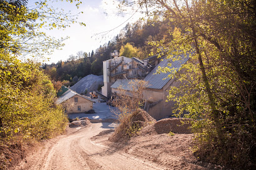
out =
[[[192,134],[146,134],[112,143],[114,123],[68,128],[31,151],[12,169],[209,169],[196,164]]]

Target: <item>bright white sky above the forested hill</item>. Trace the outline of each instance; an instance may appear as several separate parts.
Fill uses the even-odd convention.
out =
[[[114,36],[117,36],[128,22],[135,22],[139,17],[142,17],[142,14],[139,12],[136,14],[131,12],[124,16],[118,16],[116,4],[113,4],[112,1],[113,0],[82,0],[82,4],[80,4],[80,8],[78,9],[75,7],[75,4],[70,4],[69,2],[62,1],[53,3],[54,7],[57,6],[65,11],[71,11],[73,14],[83,11],[83,14],[78,16],[78,21],[84,22],[86,26],[72,24],[71,27],[68,27],[64,31],[58,29],[46,31],[46,34],[50,36],[58,38],[70,37],[68,40],[64,41],[65,46],[62,47],[62,50],[55,50],[51,56],[46,56],[50,58],[46,63],[57,63],[60,60],[66,61],[70,55],[76,55],[78,51],[91,53],[92,50],[95,51],[100,45],[104,45]],[[107,2],[107,4],[105,4],[105,2]],[[107,14],[105,14],[106,12]],[[102,34],[95,36],[95,34],[111,29],[114,30],[110,31],[107,36],[102,36]]]

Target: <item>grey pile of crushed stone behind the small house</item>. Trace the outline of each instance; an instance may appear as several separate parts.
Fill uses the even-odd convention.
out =
[[[85,76],[70,89],[77,92],[78,94],[89,94],[92,91],[97,91],[99,86],[103,86],[103,76],[96,76],[90,74]]]

